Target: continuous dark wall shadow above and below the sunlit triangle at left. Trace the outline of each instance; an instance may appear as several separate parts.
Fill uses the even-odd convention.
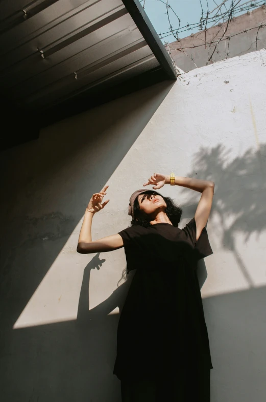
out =
[[[112,375],[117,314],[95,319],[94,313],[86,326],[81,298],[77,322],[12,328],[84,215],[91,194],[107,182],[172,87],[165,81],[117,99],[2,154],[0,378],[5,402],[119,400],[119,381]],[[85,270],[87,279],[96,260]]]

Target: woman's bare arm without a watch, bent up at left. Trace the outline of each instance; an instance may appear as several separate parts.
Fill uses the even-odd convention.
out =
[[[112,251],[124,246],[123,239],[118,234],[103,237],[102,239],[96,241],[91,240],[92,218],[94,214],[104,208],[109,201],[107,200],[101,203],[104,195],[106,194],[107,187],[108,186],[104,187],[104,189],[100,193],[93,194],[86,208],[77,246],[77,251],[81,254]]]

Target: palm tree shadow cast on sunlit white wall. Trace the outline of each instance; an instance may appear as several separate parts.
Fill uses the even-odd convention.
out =
[[[258,150],[251,147],[243,156],[233,159],[230,158],[231,150],[223,144],[212,149],[202,147],[195,154],[193,167],[187,174],[188,177],[215,182],[211,217],[215,216],[220,247],[232,252],[251,287],[255,284],[237,250],[236,235],[244,235],[244,241],[247,242],[252,234],[259,236],[266,229],[265,155],[266,144],[260,144]],[[181,194],[189,197],[189,203],[183,208],[185,217],[193,216],[198,195],[191,194],[186,188],[182,189]]]

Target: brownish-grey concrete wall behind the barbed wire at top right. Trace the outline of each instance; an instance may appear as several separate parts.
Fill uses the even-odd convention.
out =
[[[261,28],[258,29],[260,26]],[[211,61],[208,62],[208,60],[214,50],[212,62],[265,48],[266,7],[259,7],[250,11],[249,14],[245,13],[233,17],[229,22],[227,31],[226,28],[227,21],[207,29],[206,38],[205,31],[200,31],[172,42],[169,45],[169,50],[175,64],[183,71],[190,71],[211,64]],[[244,30],[246,32],[243,32]],[[213,45],[208,45],[212,40]],[[205,41],[207,43],[206,48]]]

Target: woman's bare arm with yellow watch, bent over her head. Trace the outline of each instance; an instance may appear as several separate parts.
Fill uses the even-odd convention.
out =
[[[154,184],[154,189],[161,188],[164,184],[170,184],[170,176],[154,173],[149,181],[144,183],[143,185],[145,186],[148,184]],[[190,177],[176,176],[175,184],[182,187],[191,188],[191,190],[202,193],[195,213],[195,222],[197,226],[196,240],[198,240],[203,228],[207,224],[210,215],[214,194],[214,182],[209,180],[194,179]]]

